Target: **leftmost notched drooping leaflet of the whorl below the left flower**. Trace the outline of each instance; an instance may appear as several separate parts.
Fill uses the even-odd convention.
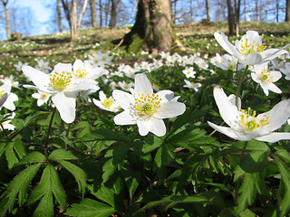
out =
[[[25,168],[22,172],[14,177],[14,180],[10,182],[7,186],[5,192],[5,198],[7,199],[5,204],[5,211],[8,209],[9,212],[12,212],[15,197],[18,194],[18,203],[19,206],[24,204],[24,196],[27,192],[28,184],[33,180],[34,175],[36,175],[38,169],[42,164],[35,164]]]

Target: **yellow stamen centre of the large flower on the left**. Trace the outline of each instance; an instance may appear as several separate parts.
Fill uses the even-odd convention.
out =
[[[54,71],[53,74],[50,74],[49,80],[51,80],[54,90],[62,91],[66,86],[70,85],[72,77],[72,73],[69,71]]]

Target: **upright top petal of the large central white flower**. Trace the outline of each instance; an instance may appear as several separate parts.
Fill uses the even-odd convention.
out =
[[[134,88],[134,94],[137,96],[138,94],[152,94],[153,89],[152,85],[150,83],[150,80],[147,78],[145,73],[140,73],[135,75],[135,88]]]

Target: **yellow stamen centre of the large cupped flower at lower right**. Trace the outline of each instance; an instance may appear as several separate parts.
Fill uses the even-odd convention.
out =
[[[265,115],[264,118],[258,120],[256,118],[256,110],[251,110],[250,108],[247,110],[241,109],[239,118],[239,124],[242,128],[244,128],[246,133],[248,131],[254,131],[258,128],[263,128],[269,124],[269,117],[267,115]]]

